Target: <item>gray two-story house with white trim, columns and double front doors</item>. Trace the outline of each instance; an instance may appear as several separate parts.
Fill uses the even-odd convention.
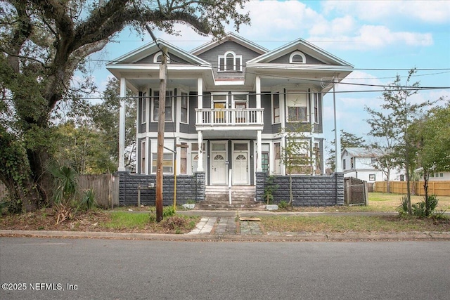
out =
[[[157,40],[108,63],[122,96],[125,88],[139,95],[137,174],[156,174],[162,46],[165,175],[201,172],[205,186],[255,186],[258,172],[283,176],[282,132],[295,124],[307,125],[304,170],[324,174],[323,96],[352,65],[303,39],[269,51],[233,33],[191,51]]]

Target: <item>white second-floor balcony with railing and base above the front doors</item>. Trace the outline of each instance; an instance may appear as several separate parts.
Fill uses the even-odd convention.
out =
[[[202,108],[195,112],[198,131],[257,131],[264,126],[264,108]]]

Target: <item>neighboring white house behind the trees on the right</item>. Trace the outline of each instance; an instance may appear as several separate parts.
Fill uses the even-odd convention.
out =
[[[366,148],[344,148],[341,153],[342,169],[344,177],[354,177],[373,183],[386,181],[383,171],[373,167],[377,161],[377,155]],[[390,181],[403,181],[404,173],[397,169],[391,171]]]

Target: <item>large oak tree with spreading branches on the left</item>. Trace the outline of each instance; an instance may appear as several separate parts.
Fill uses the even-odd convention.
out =
[[[26,211],[47,204],[45,166],[58,141],[53,114],[71,96],[86,57],[124,27],[174,33],[182,23],[220,37],[250,22],[247,0],[4,0],[0,7],[0,180]]]

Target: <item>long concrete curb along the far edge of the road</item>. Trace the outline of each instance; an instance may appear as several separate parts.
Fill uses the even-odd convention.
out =
[[[97,238],[109,240],[160,240],[192,242],[343,242],[343,241],[447,241],[450,232],[411,233],[293,233],[292,235],[174,235],[96,231],[0,230],[1,237]]]

